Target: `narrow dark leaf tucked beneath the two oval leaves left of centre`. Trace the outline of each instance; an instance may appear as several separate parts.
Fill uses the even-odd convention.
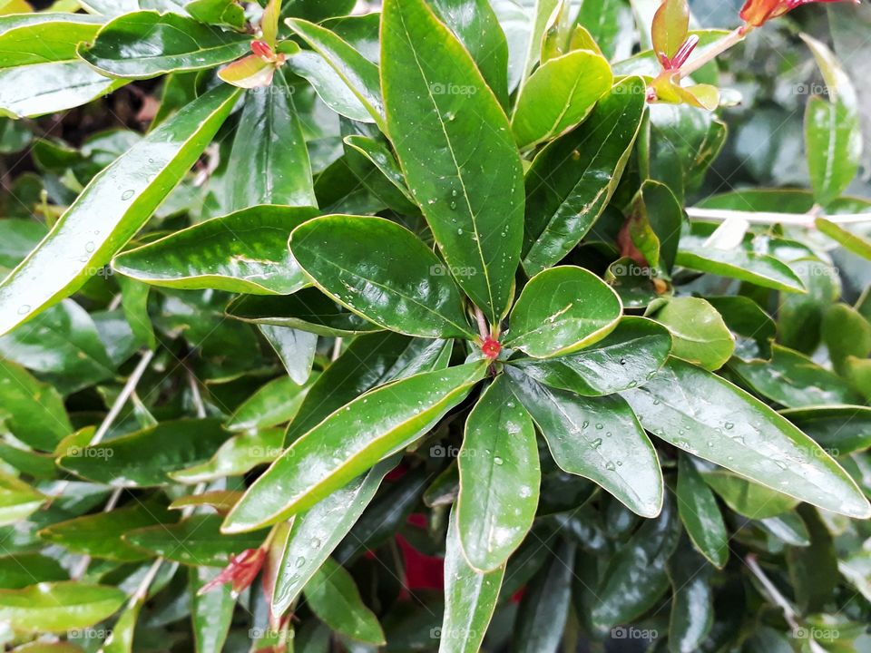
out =
[[[318,336],[357,336],[381,330],[317,288],[300,290],[289,297],[239,297],[230,302],[227,314],[256,325],[296,328]]]

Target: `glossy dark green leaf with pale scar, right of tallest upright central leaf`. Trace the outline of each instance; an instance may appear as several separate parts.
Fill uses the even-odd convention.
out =
[[[525,184],[528,275],[565,258],[611,201],[641,128],[645,90],[640,77],[622,80],[586,122],[533,160]]]

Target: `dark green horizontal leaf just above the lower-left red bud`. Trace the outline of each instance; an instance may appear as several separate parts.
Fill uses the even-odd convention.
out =
[[[218,515],[193,515],[177,524],[130,531],[124,541],[152,556],[199,567],[223,567],[246,549],[257,549],[266,531],[227,535]]]

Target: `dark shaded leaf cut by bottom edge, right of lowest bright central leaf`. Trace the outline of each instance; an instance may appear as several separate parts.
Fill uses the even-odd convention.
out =
[[[575,545],[563,541],[530,581],[517,609],[512,653],[555,653],[572,605]]]

